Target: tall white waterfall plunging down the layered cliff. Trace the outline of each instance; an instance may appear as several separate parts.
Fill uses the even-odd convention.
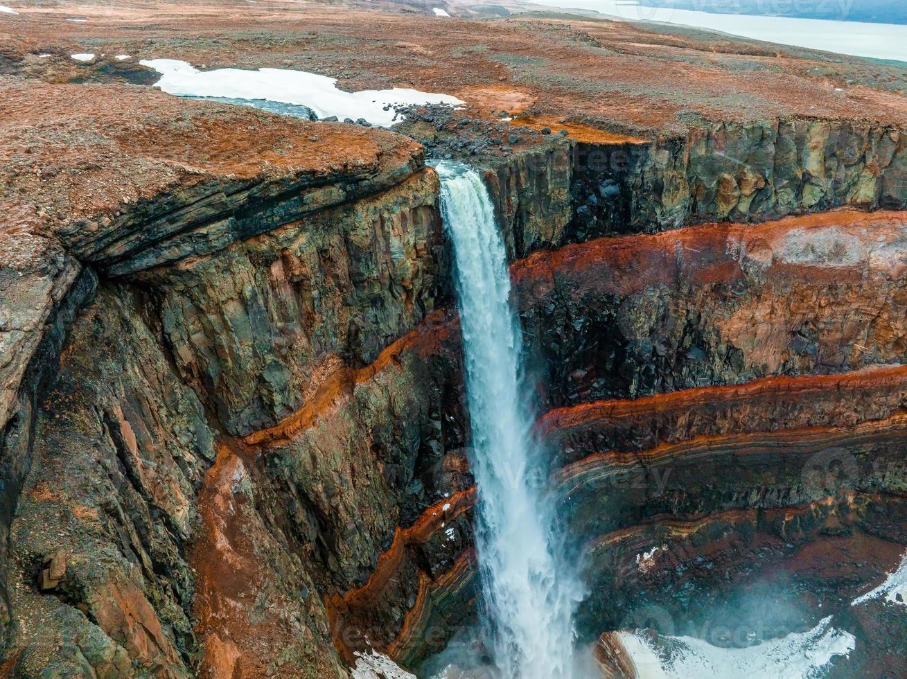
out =
[[[532,437],[506,249],[479,175],[450,163],[436,169],[456,265],[485,643],[503,679],[570,679],[581,587],[564,563]]]

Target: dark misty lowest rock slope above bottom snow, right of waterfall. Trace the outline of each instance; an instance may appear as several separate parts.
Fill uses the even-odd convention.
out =
[[[649,626],[660,632],[689,634],[692,626],[716,615],[721,603],[739,597],[736,587],[759,587],[760,581],[765,587],[775,578],[780,584],[793,577],[802,578],[795,591],[776,587],[777,597],[796,599],[800,592],[812,591],[832,606],[823,613],[817,610],[819,602],[812,601],[790,606],[788,615],[800,608],[793,619],[763,621],[764,631],[773,622],[793,630],[804,619],[828,615],[840,606],[839,587],[851,594],[849,604],[861,589],[871,588],[870,583],[897,567],[905,549],[900,526],[904,510],[902,498],[843,490],[836,498],[788,508],[653,517],[590,542],[590,559],[595,572],[602,574],[592,585],[601,590],[596,610],[587,609],[583,622],[604,619],[606,627],[630,629],[654,622]],[[822,563],[823,544],[827,554],[840,560]],[[647,620],[647,613],[654,619]],[[725,626],[734,613],[722,615],[726,619],[713,618],[710,625]],[[730,629],[757,622],[730,621]]]

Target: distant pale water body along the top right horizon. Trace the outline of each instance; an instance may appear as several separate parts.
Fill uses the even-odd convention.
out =
[[[907,25],[829,21],[787,16],[720,15],[634,0],[533,0],[539,5],[585,9],[626,21],[654,21],[740,35],[769,43],[907,63]],[[669,3],[666,3],[669,4]]]

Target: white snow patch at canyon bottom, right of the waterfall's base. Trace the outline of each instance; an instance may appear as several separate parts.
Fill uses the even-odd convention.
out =
[[[806,679],[838,656],[849,655],[856,639],[831,626],[828,616],[807,632],[771,639],[746,648],[720,648],[692,636],[664,636],[653,643],[645,630],[619,632],[639,671],[639,679]]]

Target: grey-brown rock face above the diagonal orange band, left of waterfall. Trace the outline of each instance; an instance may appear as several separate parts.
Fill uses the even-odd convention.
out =
[[[424,170],[375,198],[140,277],[161,290],[180,373],[230,433],[276,424],[329,375],[372,363],[449,300],[437,183]]]

